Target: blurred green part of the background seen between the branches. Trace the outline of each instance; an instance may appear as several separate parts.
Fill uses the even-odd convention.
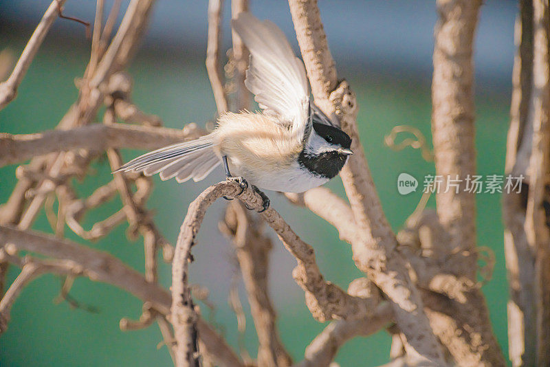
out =
[[[0,39],[0,49],[9,47],[19,54],[28,34]],[[4,33],[6,34],[6,33]],[[89,45],[59,37],[47,38],[32,67],[28,71],[17,100],[0,112],[0,132],[35,133],[53,129],[68,107],[76,100],[74,79],[83,75]],[[129,67],[135,81],[133,98],[147,113],[159,115],[164,124],[181,128],[186,122],[203,125],[215,115],[215,104],[206,70],[203,67],[203,50],[197,54],[183,54],[173,49],[149,47],[140,52]],[[394,230],[399,230],[408,215],[415,209],[420,192],[401,196],[396,181],[399,173],[422,177],[434,173],[432,163],[424,162],[419,151],[406,148],[401,152],[384,146],[384,136],[397,124],[416,126],[430,142],[430,77],[426,74],[408,74],[402,70],[384,70],[371,67],[338,65],[341,76],[351,83],[360,106],[358,124],[362,144],[373,173],[386,216]],[[346,69],[347,68],[347,69]],[[509,83],[483,85],[476,92],[478,173],[503,174],[505,139],[509,120]],[[125,151],[126,159],[138,151]],[[0,168],[0,202],[5,202],[14,186],[16,166]],[[79,192],[91,192],[110,179],[104,160],[96,162],[92,175],[76,183]],[[214,171],[201,183],[177,184],[174,180],[162,182],[155,177],[155,192],[148,207],[157,213],[162,233],[175,241],[179,225],[188,203],[208,184],[223,177],[221,170]],[[328,185],[343,194],[340,179]],[[314,214],[295,208],[277,194],[270,193],[272,205],[292,224],[305,241],[314,245],[320,269],[327,280],[344,289],[351,280],[362,274],[353,265],[351,249],[338,240],[333,227]],[[120,205],[118,199],[104,205],[87,216],[85,225],[103,219]],[[232,346],[237,345],[236,319],[228,307],[227,296],[230,278],[235,274],[231,245],[217,231],[225,203],[216,203],[207,214],[195,247],[195,263],[191,266],[191,280],[210,289],[215,311],[206,311],[219,331]],[[434,205],[433,199],[430,206]],[[503,225],[500,212],[500,195],[479,194],[477,199],[478,244],[489,246],[496,255],[493,279],[483,291],[487,296],[494,331],[507,355],[507,281],[503,254]],[[42,213],[34,229],[51,232]],[[131,267],[143,271],[143,249],[140,241],[131,242],[124,236],[126,225],[118,227],[110,236],[97,243],[85,243],[76,236],[69,238],[102,249],[118,256]],[[271,235],[273,235],[270,232]],[[270,263],[271,293],[276,304],[278,326],[285,346],[296,361],[303,358],[305,346],[325,324],[316,322],[303,302],[303,292],[291,276],[295,265],[292,256],[274,238],[274,251]],[[170,269],[160,268],[162,283],[168,287]],[[9,280],[17,276],[10,271]],[[122,317],[137,318],[141,302],[115,287],[76,280],[71,295],[88,304],[98,313],[71,309],[67,303],[54,304],[61,280],[43,276],[24,289],[12,309],[8,331],[0,337],[0,363],[2,366],[169,366],[166,347],[157,349],[162,341],[156,326],[142,331],[122,332],[118,322]],[[241,300],[248,313],[243,287]],[[203,309],[206,309],[203,307]],[[256,351],[256,337],[248,313],[245,346],[250,354]],[[338,353],[342,366],[376,366],[388,362],[390,338],[380,332],[368,338],[357,337]]]

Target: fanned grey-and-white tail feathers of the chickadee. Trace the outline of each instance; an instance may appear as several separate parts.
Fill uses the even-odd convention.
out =
[[[213,147],[212,137],[206,135],[190,142],[166,146],[141,155],[115,172],[143,172],[147,176],[160,173],[162,180],[176,177],[178,182],[184,182],[190,178],[200,181],[220,164]]]

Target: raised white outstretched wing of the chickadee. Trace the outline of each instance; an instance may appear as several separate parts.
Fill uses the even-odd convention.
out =
[[[285,34],[272,22],[242,12],[233,29],[250,51],[245,85],[264,113],[301,136],[311,130],[309,86],[302,60],[296,57]],[[308,126],[309,125],[309,126]]]

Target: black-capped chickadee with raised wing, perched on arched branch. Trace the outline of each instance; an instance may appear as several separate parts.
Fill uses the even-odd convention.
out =
[[[241,12],[233,30],[250,52],[245,86],[261,111],[226,112],[208,135],[132,159],[115,172],[159,173],[162,180],[201,181],[223,164],[241,188],[305,192],[342,170],[351,138],[311,100],[304,64],[269,20]],[[228,198],[226,198],[228,199]]]

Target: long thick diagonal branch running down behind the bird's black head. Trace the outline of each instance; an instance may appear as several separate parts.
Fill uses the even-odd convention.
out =
[[[352,138],[355,153],[344,166],[342,181],[362,241],[352,243],[355,264],[369,275],[391,300],[395,320],[408,342],[432,363],[443,364],[422,300],[407,271],[407,260],[397,252],[395,234],[382,210],[360,143],[357,103],[347,82],[337,87],[336,68],[322,28],[316,0],[289,0],[296,36],[316,103],[336,115]]]

